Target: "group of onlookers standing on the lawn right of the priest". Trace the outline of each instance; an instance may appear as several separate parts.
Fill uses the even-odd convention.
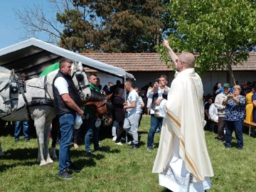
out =
[[[217,82],[213,87],[213,95],[205,97],[204,110],[206,129],[213,131],[213,122],[218,124],[218,142],[225,142],[225,147],[231,147],[232,134],[235,132],[238,149],[243,148],[243,125],[256,122],[256,82],[234,82],[231,87],[225,82]],[[212,110],[211,110],[212,109]],[[245,124],[246,125],[246,124]]]

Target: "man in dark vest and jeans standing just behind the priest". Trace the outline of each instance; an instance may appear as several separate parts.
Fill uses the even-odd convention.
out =
[[[147,139],[147,149],[148,151],[152,151],[154,144],[154,134],[156,133],[156,129],[161,129],[161,125],[163,123],[163,117],[157,117],[154,113],[159,107],[161,100],[167,100],[167,95],[169,92],[169,87],[167,86],[167,77],[166,75],[161,75],[159,80],[156,80],[154,86],[149,90],[146,97],[152,98],[151,107],[150,107],[150,129]]]

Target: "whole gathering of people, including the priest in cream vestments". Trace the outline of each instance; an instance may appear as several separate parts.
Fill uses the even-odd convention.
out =
[[[243,148],[242,129],[244,119],[256,122],[255,82],[235,82],[233,87],[217,82],[213,95],[203,100],[203,84],[193,68],[195,57],[192,53],[176,55],[164,40],[164,46],[176,65],[176,74],[169,87],[166,75],[161,75],[152,84],[134,87],[131,80],[116,85],[108,82],[103,88],[95,73],[88,76],[90,89],[104,95],[111,95],[112,140],[122,145],[122,138],[128,135],[130,149],[139,148],[139,124],[142,114],[150,115],[150,127],[146,149],[154,148],[154,135],[161,132],[159,149],[153,172],[159,174],[159,184],[167,191],[204,191],[209,189],[213,169],[208,156],[204,127],[214,129],[218,124],[218,142],[225,147],[232,146],[235,132],[238,149]],[[95,110],[82,106],[80,96],[70,77],[71,61],[60,60],[60,70],[53,80],[55,114],[60,123],[60,150],[58,155],[58,176],[72,178],[70,171],[80,171],[71,161],[70,144],[79,148],[79,136],[84,130],[85,154],[93,155],[102,151],[99,144],[100,123]],[[188,94],[189,93],[189,94]],[[204,115],[203,115],[204,114]],[[80,129],[74,129],[75,117],[85,117]],[[15,141],[23,123],[24,140],[29,141],[28,122],[16,122]],[[90,140],[94,146],[91,149]],[[180,182],[183,181],[183,182]]]

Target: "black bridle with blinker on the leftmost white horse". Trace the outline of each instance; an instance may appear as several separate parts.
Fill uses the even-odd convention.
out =
[[[13,83],[16,83],[16,85],[13,85]],[[4,101],[4,104],[6,105],[6,111],[1,110],[0,113],[5,113],[5,114],[11,113],[11,109],[14,108],[13,101],[18,100],[18,97],[16,98],[12,97],[12,95],[18,93],[18,85],[19,85],[18,77],[15,74],[12,76],[10,75],[8,82],[0,90],[0,92],[2,92],[3,90],[6,89],[6,87],[9,87],[9,97],[7,97],[7,99]]]

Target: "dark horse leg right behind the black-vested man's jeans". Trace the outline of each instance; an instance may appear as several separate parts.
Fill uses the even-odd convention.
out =
[[[52,141],[52,146],[50,148],[50,157],[53,159],[58,159],[58,156],[56,155],[56,151],[55,151],[55,146],[57,142],[59,129],[60,129],[60,122],[58,120],[58,117],[54,117],[52,121],[52,132],[51,132],[53,141]]]

